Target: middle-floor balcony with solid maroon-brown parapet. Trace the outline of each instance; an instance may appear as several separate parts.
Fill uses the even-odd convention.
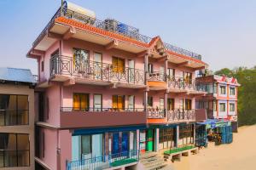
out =
[[[146,122],[146,112],[141,108],[61,108],[61,128],[125,126]]]

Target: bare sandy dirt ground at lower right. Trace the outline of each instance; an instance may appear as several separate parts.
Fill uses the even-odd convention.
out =
[[[232,144],[208,144],[197,155],[175,161],[175,170],[255,170],[256,125],[239,127]]]

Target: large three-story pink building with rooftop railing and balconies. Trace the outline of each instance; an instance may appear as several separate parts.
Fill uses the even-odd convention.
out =
[[[201,55],[83,9],[60,8],[27,54],[38,60],[37,168],[121,169],[195,144]]]

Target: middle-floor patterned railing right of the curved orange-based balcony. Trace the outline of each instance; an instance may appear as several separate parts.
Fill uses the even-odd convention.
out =
[[[195,110],[180,110],[175,109],[167,111],[168,122],[172,121],[194,121],[195,120]]]

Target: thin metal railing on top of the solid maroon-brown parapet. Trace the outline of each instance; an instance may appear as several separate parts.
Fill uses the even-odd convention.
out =
[[[80,107],[61,107],[61,111],[63,112],[70,112],[70,111],[84,111],[84,112],[93,112],[93,111],[127,111],[127,112],[138,112],[138,111],[145,111],[145,109],[143,108],[123,108],[123,109],[119,109],[119,108],[80,108]]]

